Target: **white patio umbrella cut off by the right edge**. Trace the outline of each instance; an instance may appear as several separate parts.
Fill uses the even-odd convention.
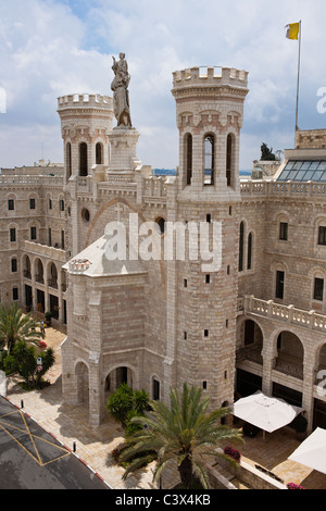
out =
[[[326,474],[326,429],[317,427],[294,450],[289,460]]]

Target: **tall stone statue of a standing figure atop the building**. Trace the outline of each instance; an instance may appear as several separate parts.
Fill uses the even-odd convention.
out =
[[[111,90],[113,91],[114,115],[117,121],[117,127],[130,128],[133,127],[128,91],[130,75],[125,57],[125,53],[120,53],[118,62],[113,57],[112,70],[115,77],[111,84]]]

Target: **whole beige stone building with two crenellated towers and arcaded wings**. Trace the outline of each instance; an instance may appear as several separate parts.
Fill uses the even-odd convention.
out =
[[[113,127],[112,99],[85,95],[59,98],[63,169],[2,171],[1,299],[16,287],[34,311],[58,307],[63,399],[87,402],[91,425],[122,382],[164,401],[188,382],[213,408],[263,389],[302,406],[310,429],[325,426],[326,132],[298,132],[274,175],[240,180],[248,91],[238,70],[173,74],[176,176],[153,176],[137,158],[137,129]],[[29,188],[38,205],[26,214]],[[22,212],[7,210],[11,195]],[[18,238],[9,242],[12,224]],[[148,246],[134,252],[149,238],[145,225],[152,257]],[[200,228],[204,261],[190,257]],[[125,258],[108,256],[114,236]]]

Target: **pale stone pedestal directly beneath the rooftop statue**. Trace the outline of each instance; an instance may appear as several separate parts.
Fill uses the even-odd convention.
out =
[[[109,134],[111,145],[110,172],[133,172],[140,164],[136,155],[139,133],[135,128],[114,128]]]

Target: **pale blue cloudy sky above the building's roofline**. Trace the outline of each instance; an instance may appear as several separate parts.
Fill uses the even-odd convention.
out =
[[[326,128],[325,0],[0,0],[0,167],[63,160],[57,98],[111,95],[112,57],[126,53],[143,164],[178,164],[172,73],[197,65],[249,71],[240,167],[264,141],[293,147],[302,20],[299,126]],[[5,113],[3,97],[5,95]]]

